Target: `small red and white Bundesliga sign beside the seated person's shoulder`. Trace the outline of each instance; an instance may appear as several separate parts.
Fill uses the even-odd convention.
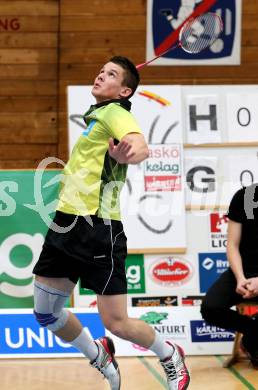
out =
[[[222,213],[210,214],[210,250],[225,250],[227,247],[228,217]]]

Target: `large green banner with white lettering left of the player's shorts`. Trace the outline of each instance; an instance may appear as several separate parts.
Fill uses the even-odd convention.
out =
[[[33,307],[32,269],[59,181],[59,170],[0,171],[0,308]]]

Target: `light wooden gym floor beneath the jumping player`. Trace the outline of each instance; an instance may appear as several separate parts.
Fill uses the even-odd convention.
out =
[[[258,371],[248,361],[223,368],[226,356],[189,356],[189,390],[258,389]],[[166,389],[163,372],[155,357],[118,358],[121,390]],[[0,360],[1,390],[109,390],[101,374],[87,360],[10,359]]]

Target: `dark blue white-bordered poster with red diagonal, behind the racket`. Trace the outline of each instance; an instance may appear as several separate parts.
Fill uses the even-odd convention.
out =
[[[221,64],[229,58],[238,63],[240,11],[241,0],[149,0],[147,60],[161,56],[154,65],[169,65],[172,60]],[[198,50],[185,47],[189,32]]]

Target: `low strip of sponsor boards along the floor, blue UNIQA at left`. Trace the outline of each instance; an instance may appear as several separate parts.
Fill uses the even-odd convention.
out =
[[[153,353],[145,348],[119,339],[106,330],[96,309],[71,309],[93,338],[109,335],[115,342],[117,356],[149,356]],[[232,342],[226,338],[218,340],[216,332],[205,343],[198,343],[197,335],[205,334],[199,307],[129,307],[130,317],[139,318],[149,324],[164,340],[175,341],[186,354],[231,353]],[[201,336],[200,336],[201,337]],[[193,341],[192,341],[193,338]],[[70,344],[63,342],[52,332],[38,325],[32,309],[0,310],[0,358],[41,358],[83,356]],[[203,341],[204,339],[202,339]],[[214,343],[214,341],[216,341]]]

